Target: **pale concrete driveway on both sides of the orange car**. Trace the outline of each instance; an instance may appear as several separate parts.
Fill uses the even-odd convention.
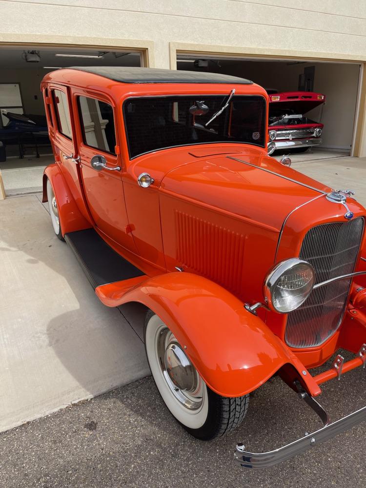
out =
[[[293,167],[366,206],[366,158]],[[40,199],[0,202],[0,431],[149,374],[144,310],[99,302]]]

